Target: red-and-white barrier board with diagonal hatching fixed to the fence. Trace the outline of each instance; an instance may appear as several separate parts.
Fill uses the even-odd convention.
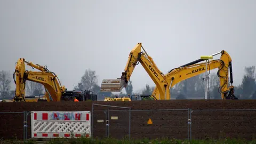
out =
[[[78,138],[90,135],[90,111],[31,111],[31,138]]]

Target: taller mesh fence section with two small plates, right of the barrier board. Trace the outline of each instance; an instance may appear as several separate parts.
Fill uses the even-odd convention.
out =
[[[92,104],[91,137],[130,138],[131,108]]]

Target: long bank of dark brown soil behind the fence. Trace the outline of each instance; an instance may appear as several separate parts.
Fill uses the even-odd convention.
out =
[[[160,137],[187,139],[190,131],[188,108],[193,110],[191,113],[193,139],[220,137],[253,139],[256,130],[256,110],[252,110],[256,109],[256,100],[2,102],[0,109],[1,112],[91,111],[92,103],[131,108],[131,138],[134,139]],[[110,118],[110,137],[126,137],[129,134],[129,109],[96,105],[93,110],[93,137],[106,136],[106,114],[103,112],[107,109],[109,117],[118,117],[118,119]],[[0,117],[0,138],[23,139],[23,113],[1,113]],[[149,118],[153,124],[147,124]],[[28,138],[31,138],[30,115],[27,119]],[[104,122],[99,123],[99,119],[103,119]]]

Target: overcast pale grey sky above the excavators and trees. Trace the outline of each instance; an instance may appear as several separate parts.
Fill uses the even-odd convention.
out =
[[[72,90],[89,68],[97,71],[99,85],[103,78],[119,78],[141,42],[163,73],[226,50],[237,85],[244,67],[255,65],[255,5],[253,0],[0,0],[0,66],[13,73],[19,58],[47,65]],[[141,65],[131,81],[134,90],[154,86]]]

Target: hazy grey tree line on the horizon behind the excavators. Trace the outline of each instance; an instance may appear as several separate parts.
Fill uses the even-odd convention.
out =
[[[238,99],[256,99],[256,82],[255,82],[255,66],[245,67],[242,83],[235,87],[235,96]],[[205,74],[197,75],[181,81],[171,87],[170,94],[172,99],[204,99],[205,97],[205,82],[203,78]],[[9,71],[0,71],[0,99],[12,99],[15,95],[15,90],[11,90],[11,73]],[[219,92],[220,79],[217,73],[210,73],[210,99],[221,99]],[[134,92],[132,81],[125,87],[125,93],[120,92],[119,97],[127,97],[127,94],[151,94],[155,86],[145,85],[140,91]],[[26,95],[35,96],[45,93],[44,86],[39,83],[26,81]],[[81,81],[74,87],[74,90],[89,90],[93,94],[98,95],[98,100],[103,100],[105,97],[115,97],[111,92],[100,92],[98,85],[98,76],[95,70],[86,69]]]

